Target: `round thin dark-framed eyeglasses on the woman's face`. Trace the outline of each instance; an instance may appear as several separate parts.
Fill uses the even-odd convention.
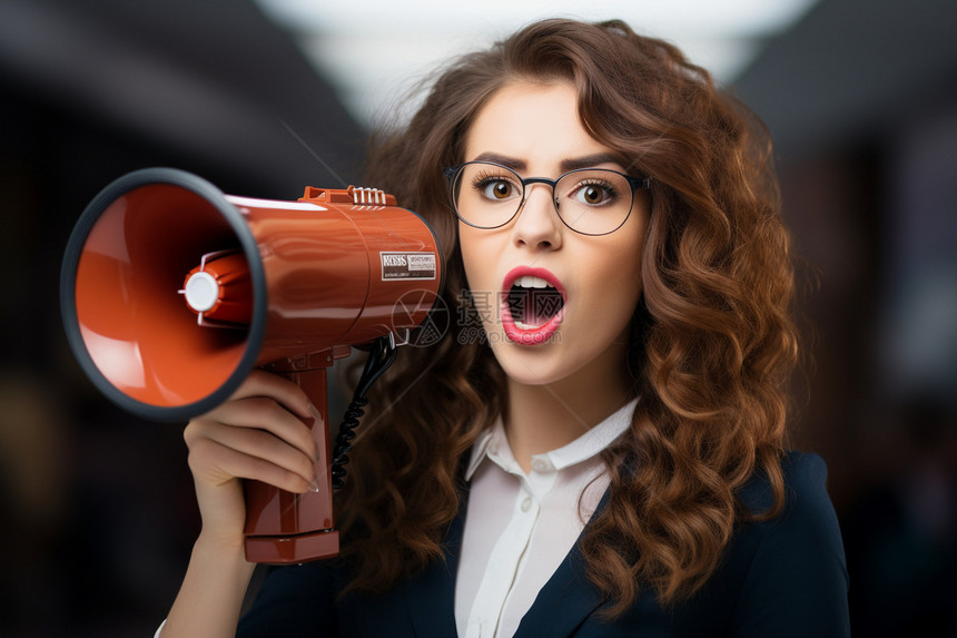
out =
[[[555,212],[565,226],[582,235],[608,235],[631,214],[634,192],[650,188],[651,178],[634,178],[608,168],[570,170],[558,179],[522,178],[492,161],[466,161],[444,168],[452,205],[460,219],[476,228],[499,228],[522,210],[532,184],[552,187]]]

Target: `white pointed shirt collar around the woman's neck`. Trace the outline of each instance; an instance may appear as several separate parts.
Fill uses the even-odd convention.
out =
[[[637,404],[638,399],[632,399],[568,445],[543,454],[535,454],[532,457],[533,462],[535,459],[545,459],[558,471],[598,455],[628,430]],[[472,457],[465,471],[466,481],[472,479],[472,474],[486,458],[501,465],[505,471],[521,472],[517,461],[512,455],[512,449],[509,446],[509,439],[505,436],[505,426],[501,415],[472,444]]]

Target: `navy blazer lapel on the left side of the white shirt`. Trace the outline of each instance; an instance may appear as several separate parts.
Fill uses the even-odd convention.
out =
[[[467,490],[445,536],[445,560],[434,561],[405,590],[408,616],[418,638],[455,636],[455,572],[462,550]]]

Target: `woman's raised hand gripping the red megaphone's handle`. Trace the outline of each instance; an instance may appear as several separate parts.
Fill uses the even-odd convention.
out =
[[[241,547],[246,506],[239,479],[288,492],[309,489],[317,450],[303,420],[313,418],[298,385],[255,370],[228,401],[189,422],[184,439],[203,518],[200,538]]]

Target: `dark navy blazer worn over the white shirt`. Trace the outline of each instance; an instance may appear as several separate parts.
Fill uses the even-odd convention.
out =
[[[645,588],[614,621],[589,582],[578,546],[539,592],[519,638],[849,636],[848,578],[837,517],[825,488],[827,468],[815,454],[790,453],[783,463],[787,506],[772,521],[739,526],[719,569],[689,601],[665,608]],[[767,480],[741,492],[746,506],[766,509]],[[463,499],[464,500],[464,499]],[[602,506],[604,504],[604,500]],[[445,561],[383,596],[337,599],[348,577],[339,561],[274,569],[237,636],[451,638],[455,569],[463,516],[446,536]]]

